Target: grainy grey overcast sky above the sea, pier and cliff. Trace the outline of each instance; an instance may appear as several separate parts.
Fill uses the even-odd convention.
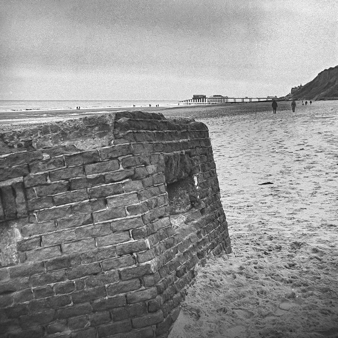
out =
[[[282,96],[338,65],[337,0],[0,0],[0,99]]]

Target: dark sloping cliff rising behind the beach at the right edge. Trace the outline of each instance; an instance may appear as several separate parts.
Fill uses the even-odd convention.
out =
[[[338,66],[325,69],[294,93],[296,100],[338,100]]]

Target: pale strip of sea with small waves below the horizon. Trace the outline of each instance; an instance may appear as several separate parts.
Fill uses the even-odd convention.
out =
[[[117,107],[173,106],[177,101],[169,100],[0,100],[0,113],[17,111],[95,109]]]

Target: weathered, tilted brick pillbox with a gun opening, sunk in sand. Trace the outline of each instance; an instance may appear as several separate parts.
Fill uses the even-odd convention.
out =
[[[117,112],[0,134],[0,337],[167,337],[231,252],[206,125]]]

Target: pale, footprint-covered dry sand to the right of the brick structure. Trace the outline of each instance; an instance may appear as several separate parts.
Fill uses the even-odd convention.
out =
[[[170,338],[338,337],[338,101],[279,106],[203,120],[233,252],[197,267]]]

